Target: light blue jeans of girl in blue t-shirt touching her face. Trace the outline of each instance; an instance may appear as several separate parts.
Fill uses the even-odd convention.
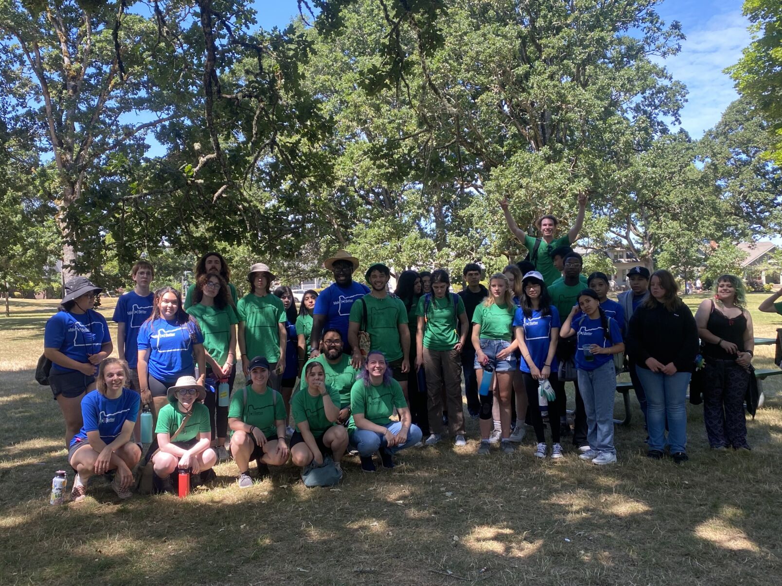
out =
[[[595,452],[616,453],[614,448],[614,396],[616,370],[613,360],[594,370],[578,370],[579,390],[587,412],[587,441]]]

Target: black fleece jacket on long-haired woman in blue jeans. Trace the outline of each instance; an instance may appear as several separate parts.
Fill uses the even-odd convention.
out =
[[[691,373],[698,356],[698,326],[690,308],[680,303],[669,311],[660,302],[653,309],[638,306],[630,318],[627,353],[640,368],[648,368],[646,360],[651,357],[663,365],[673,363],[680,373]]]

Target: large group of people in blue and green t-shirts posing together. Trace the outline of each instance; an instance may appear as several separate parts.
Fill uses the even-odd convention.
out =
[[[142,405],[154,418],[145,458],[160,490],[171,488],[170,475],[181,468],[196,483],[210,481],[229,453],[239,487],[248,488],[253,461],[259,477],[289,457],[303,468],[328,457],[341,470],[353,448],[361,469],[374,471],[375,454],[393,467],[394,454],[413,445],[447,435],[466,445],[462,379],[468,416],[479,420],[479,454],[492,445],[514,452],[529,424],[540,459],[563,457],[561,438],[572,434],[581,459],[614,463],[615,377],[625,364],[644,413],[648,456],[662,458],[667,448],[682,463],[685,395],[699,344],[709,443],[748,449],[742,403],[754,338],[741,279],[720,277],[713,300],[693,316],[671,273],[636,266],[630,290],[615,302],[608,277],[585,277],[583,259],[569,248],[585,202],[579,198],[576,226],[563,238],[554,238],[553,216],[539,221],[540,238],[529,237],[503,203],[528,259],[488,276],[488,288],[481,266],[469,263],[457,294],[442,269],[406,270],[392,293],[389,267],[374,263],[360,283],[353,280],[359,259],[339,251],[325,260],[334,283],[306,291],[296,311],[290,288],[272,290],[266,264],[249,267],[249,293],[238,298],[225,259],[208,252],[183,301],[174,288],[152,293],[153,267],[139,261],[135,288],[113,314],[119,358],[109,357],[109,328],[93,309],[101,289],[74,277],[45,328],[49,382],[77,472],[73,497],[84,498],[88,477],[109,470],[117,495],[131,495]],[[782,303],[772,304],[761,309],[782,313]],[[566,381],[575,386],[572,430]],[[226,385],[223,398],[218,389]]]

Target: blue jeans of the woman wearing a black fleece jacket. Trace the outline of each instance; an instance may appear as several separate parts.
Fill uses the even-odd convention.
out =
[[[668,418],[668,445],[671,453],[687,451],[687,385],[691,373],[653,373],[638,366],[640,384],[647,400],[649,449],[665,448],[665,417]]]

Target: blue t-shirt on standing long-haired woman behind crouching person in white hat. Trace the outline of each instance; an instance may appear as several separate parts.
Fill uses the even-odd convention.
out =
[[[181,325],[159,317],[138,328],[138,351],[149,350],[149,374],[166,384],[195,372],[194,344],[203,344],[203,334],[192,317]]]

